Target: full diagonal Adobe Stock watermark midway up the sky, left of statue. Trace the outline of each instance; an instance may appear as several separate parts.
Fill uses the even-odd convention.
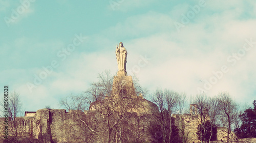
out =
[[[77,35],[75,34],[75,38],[73,39],[73,42],[67,46],[67,48],[62,48],[59,50],[56,55],[60,62],[63,62],[67,59],[67,57],[76,49],[77,46],[81,45],[83,41],[86,39],[86,37],[83,37],[82,34]],[[44,79],[50,75],[55,68],[58,68],[59,62],[57,60],[52,60],[51,64],[48,66],[42,66],[41,72],[39,74],[34,74],[34,80],[33,83],[27,82],[27,87],[30,92],[34,88],[37,88],[38,85],[42,83]]]

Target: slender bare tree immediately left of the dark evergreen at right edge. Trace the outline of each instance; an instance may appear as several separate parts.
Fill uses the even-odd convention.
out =
[[[219,94],[220,105],[220,120],[222,125],[228,129],[227,142],[229,142],[229,134],[231,133],[231,126],[238,118],[238,104],[230,97],[228,92],[222,92]],[[232,142],[232,138],[231,138]]]

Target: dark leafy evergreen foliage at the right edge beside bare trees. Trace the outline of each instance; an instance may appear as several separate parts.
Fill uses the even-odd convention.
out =
[[[240,127],[234,129],[239,138],[256,137],[256,100],[253,101],[253,108],[248,108],[239,115],[242,121]]]

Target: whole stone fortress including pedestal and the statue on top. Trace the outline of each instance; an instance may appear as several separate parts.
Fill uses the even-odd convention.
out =
[[[126,55],[127,51],[120,42],[116,49],[118,73],[114,77],[112,92],[91,103],[89,110],[39,109],[26,111],[25,117],[17,117],[16,122],[2,118],[0,141],[6,141],[4,132],[7,126],[4,123],[9,120],[9,142],[13,134],[21,142],[158,142],[162,134],[154,125],[159,109],[142,95],[137,96],[132,77],[126,73]],[[195,107],[191,104],[190,109]],[[200,122],[193,112],[172,117],[180,136],[183,131],[188,142],[200,142],[197,135]],[[17,133],[13,132],[15,129]],[[218,128],[216,140],[226,140],[226,132],[226,128]],[[234,133],[230,136],[237,141]]]

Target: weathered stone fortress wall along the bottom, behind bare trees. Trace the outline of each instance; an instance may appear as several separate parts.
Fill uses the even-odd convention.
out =
[[[80,116],[80,117],[77,117]],[[150,140],[151,136],[147,133],[147,126],[150,126],[150,120],[152,115],[145,114],[142,115],[134,115],[135,118],[131,120],[130,124],[136,124],[136,119],[140,119],[143,124],[141,124],[141,130],[143,130],[143,136]],[[195,115],[191,114],[183,114],[183,115],[173,115],[175,118],[175,124],[179,128],[181,128],[182,121],[185,125],[185,132],[188,133],[188,141],[189,142],[200,142],[197,137],[197,127],[200,124]],[[88,124],[94,126],[95,128],[104,129],[106,125],[106,120],[99,114],[97,111],[87,110],[69,110],[66,112],[65,109],[39,109],[33,114],[26,114],[26,117],[18,117],[18,132],[20,137],[26,138],[43,138],[46,142],[69,142],[76,138],[77,132],[80,130],[82,125],[78,125],[76,127],[77,120],[84,119]],[[0,128],[4,130],[4,118],[0,120]],[[10,121],[9,121],[10,123]],[[95,125],[93,125],[95,124]],[[85,126],[85,125],[83,125]],[[67,136],[69,134],[69,136]],[[106,138],[106,135],[101,135],[101,141]],[[253,142],[256,140],[255,138],[246,138],[246,139],[237,139],[237,136],[231,132],[230,137],[232,137],[233,142]],[[227,129],[224,127],[217,128],[217,140],[212,142],[222,142],[220,140],[225,141],[227,139]],[[4,135],[1,134],[0,141],[4,140]],[[95,138],[95,142],[100,142],[100,139]]]

